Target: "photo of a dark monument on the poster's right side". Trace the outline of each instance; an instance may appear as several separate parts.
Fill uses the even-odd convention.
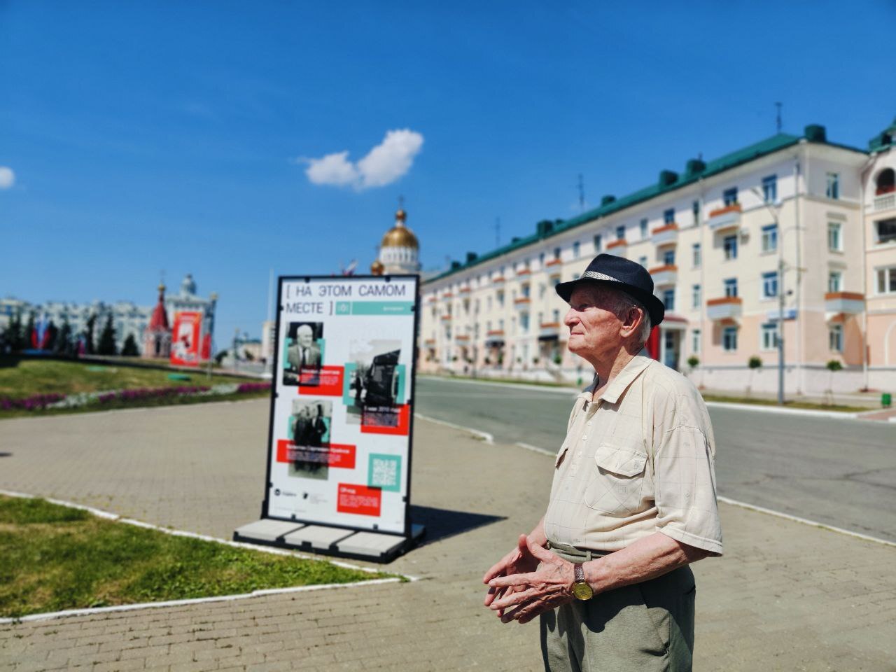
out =
[[[363,426],[397,426],[400,340],[358,339],[349,342],[348,422]],[[348,400],[347,400],[348,401]]]

